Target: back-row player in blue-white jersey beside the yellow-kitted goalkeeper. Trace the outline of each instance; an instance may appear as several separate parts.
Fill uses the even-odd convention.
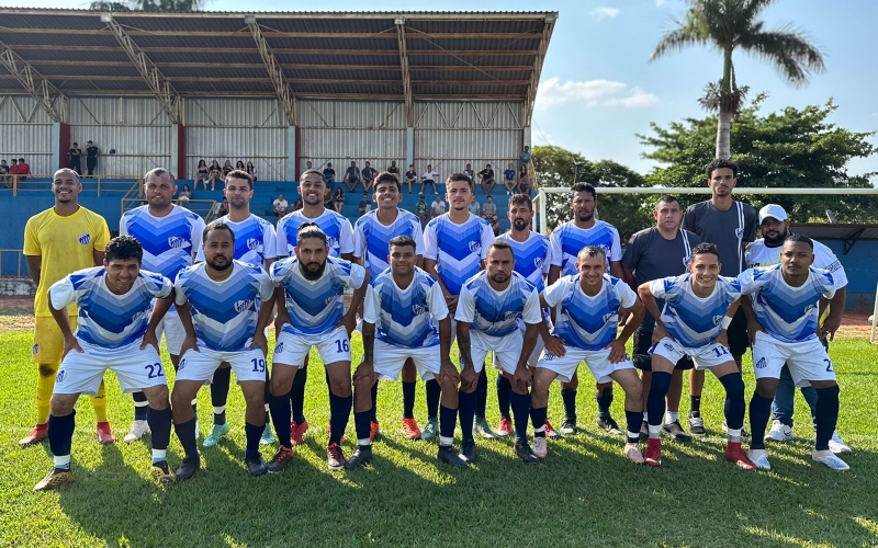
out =
[[[204,220],[185,207],[175,205],[177,194],[173,175],[164,168],[156,168],[144,175],[144,196],[146,205],[130,209],[119,221],[119,233],[130,235],[143,247],[143,266],[149,272],[161,274],[168,279],[177,279],[177,274],[192,265],[192,259],[201,244]],[[156,326],[156,334],[171,356],[173,368],[180,365],[180,349],[183,345],[183,326],[177,310],[170,310]],[[148,430],[146,416],[147,399],[134,392],[134,422],[125,443],[139,439]],[[192,400],[194,409],[195,400]],[[198,413],[196,413],[198,416]],[[198,435],[198,429],[195,429]]]

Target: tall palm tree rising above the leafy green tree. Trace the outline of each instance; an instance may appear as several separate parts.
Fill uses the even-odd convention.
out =
[[[738,87],[732,54],[748,52],[773,65],[789,84],[808,83],[811,72],[822,72],[823,55],[809,44],[804,33],[791,25],[766,30],[759,14],[774,0],[689,0],[683,20],[667,31],[653,49],[651,61],[689,46],[713,46],[722,53],[722,79],[708,84],[699,102],[719,111],[717,158],[731,157],[732,117],[738,114],[747,87]]]

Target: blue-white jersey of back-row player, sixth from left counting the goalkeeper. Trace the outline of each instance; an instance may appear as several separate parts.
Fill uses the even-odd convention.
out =
[[[440,215],[424,230],[424,259],[436,261],[436,272],[451,295],[482,270],[482,260],[494,242],[494,231],[485,219],[470,214],[462,225],[449,214]]]

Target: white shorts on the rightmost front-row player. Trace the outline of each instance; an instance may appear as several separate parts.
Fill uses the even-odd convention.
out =
[[[780,368],[789,366],[789,374],[796,386],[811,386],[811,380],[835,380],[826,350],[817,336],[798,343],[778,341],[774,336],[756,332],[753,345],[753,372],[756,380],[780,378]]]

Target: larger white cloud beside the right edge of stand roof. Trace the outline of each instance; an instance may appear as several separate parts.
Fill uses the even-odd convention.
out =
[[[553,109],[570,103],[595,106],[622,106],[638,109],[658,102],[654,93],[638,87],[628,87],[612,80],[566,80],[553,77],[540,83],[537,91],[537,109]]]

